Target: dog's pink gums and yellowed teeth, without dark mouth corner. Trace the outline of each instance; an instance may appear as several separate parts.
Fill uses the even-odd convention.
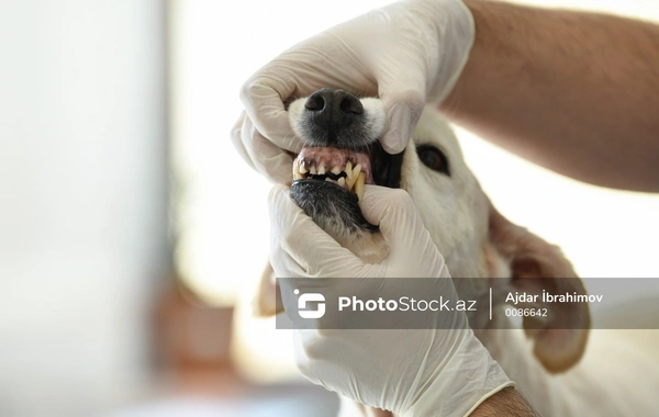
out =
[[[364,184],[372,184],[370,159],[359,151],[332,147],[305,147],[293,161],[293,180],[312,179],[337,184],[364,196]]]

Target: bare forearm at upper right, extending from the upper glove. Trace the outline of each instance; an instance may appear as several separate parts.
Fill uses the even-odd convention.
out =
[[[574,179],[659,191],[659,26],[465,2],[476,42],[442,105],[453,121]]]

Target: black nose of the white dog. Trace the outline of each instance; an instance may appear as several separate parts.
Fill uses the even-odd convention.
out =
[[[359,99],[344,90],[324,88],[311,94],[304,103],[310,122],[327,132],[330,143],[336,134],[362,116]]]

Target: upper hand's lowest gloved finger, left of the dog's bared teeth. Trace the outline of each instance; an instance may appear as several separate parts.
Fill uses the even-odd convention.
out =
[[[233,135],[237,136],[238,133],[239,140],[233,138]],[[246,154],[245,159],[257,172],[261,173],[273,183],[291,183],[293,180],[293,156],[265,138],[254,123],[252,123],[249,116],[243,119],[243,124],[239,129],[234,127],[232,138],[234,145],[236,142],[239,142],[242,148],[236,146],[238,153],[244,158],[245,155],[243,155],[241,150]]]

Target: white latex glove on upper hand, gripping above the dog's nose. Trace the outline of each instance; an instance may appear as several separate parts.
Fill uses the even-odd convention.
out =
[[[381,139],[402,151],[426,102],[454,88],[471,50],[473,18],[460,0],[407,0],[376,9],[286,50],[241,91],[246,114],[232,131],[243,158],[271,181],[290,183],[299,153],[283,101],[321,88],[382,100],[389,125]],[[268,140],[269,139],[269,140]]]

